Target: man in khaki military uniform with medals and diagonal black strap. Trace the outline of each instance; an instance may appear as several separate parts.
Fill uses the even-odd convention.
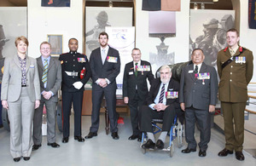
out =
[[[229,47],[218,52],[217,66],[220,78],[218,98],[224,112],[225,148],[218,152],[224,157],[235,150],[236,159],[244,160],[244,110],[247,101],[247,84],[253,77],[253,53],[238,45],[239,32],[227,31]],[[232,58],[231,58],[232,57]],[[233,119],[235,126],[233,125]]]

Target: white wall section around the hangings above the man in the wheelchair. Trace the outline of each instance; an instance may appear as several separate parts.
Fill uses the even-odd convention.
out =
[[[175,52],[175,63],[189,60],[189,1],[181,1],[181,11],[176,12],[176,37],[167,37],[168,53]],[[160,38],[148,37],[148,11],[142,10],[142,0],[136,1],[136,47],[142,59],[149,60],[149,51],[157,53],[155,45]]]

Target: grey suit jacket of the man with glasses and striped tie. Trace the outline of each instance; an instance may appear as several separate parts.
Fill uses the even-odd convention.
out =
[[[38,74],[40,79],[40,91],[51,91],[54,95],[49,98],[53,102],[58,102],[58,90],[61,87],[61,62],[53,57],[49,59],[48,72],[47,72],[47,84],[44,88],[44,83],[42,82],[44,65],[42,62],[42,56],[37,58],[38,62]],[[42,99],[44,97],[42,96]]]

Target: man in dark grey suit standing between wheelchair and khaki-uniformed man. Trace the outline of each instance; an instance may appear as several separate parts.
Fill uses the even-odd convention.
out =
[[[195,121],[201,130],[199,156],[207,156],[207,144],[211,137],[210,112],[215,111],[218,92],[217,72],[207,66],[201,49],[194,49],[188,66],[184,66],[180,80],[179,102],[185,112],[185,136],[188,147],[183,153],[195,152]]]

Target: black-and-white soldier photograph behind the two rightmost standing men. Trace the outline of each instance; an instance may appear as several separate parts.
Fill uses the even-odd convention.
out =
[[[190,9],[189,60],[193,49],[202,49],[204,62],[216,67],[218,51],[227,47],[226,31],[235,26],[235,10]]]

